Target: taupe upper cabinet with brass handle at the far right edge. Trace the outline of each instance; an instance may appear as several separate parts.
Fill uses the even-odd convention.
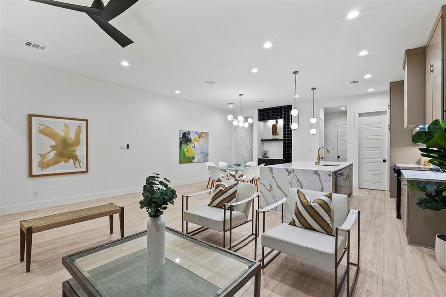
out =
[[[443,36],[444,14],[446,6],[443,6],[434,27],[432,28],[426,44],[426,124],[435,119],[443,119],[444,109],[444,73],[443,73]]]

